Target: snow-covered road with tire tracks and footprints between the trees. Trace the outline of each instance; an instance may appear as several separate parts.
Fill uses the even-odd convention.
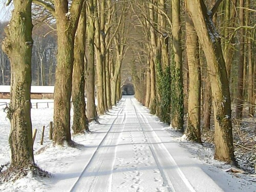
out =
[[[60,179],[52,191],[255,190],[193,158],[133,97],[124,97],[112,112],[109,122],[99,125],[97,144],[73,162],[76,177]]]

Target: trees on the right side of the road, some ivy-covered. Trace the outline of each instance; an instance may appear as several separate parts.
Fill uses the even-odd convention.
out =
[[[144,34],[139,44],[134,40],[136,98],[196,142],[210,129],[213,109],[215,158],[236,163],[231,101],[237,120],[245,103],[253,116],[255,1],[133,2],[136,29]]]

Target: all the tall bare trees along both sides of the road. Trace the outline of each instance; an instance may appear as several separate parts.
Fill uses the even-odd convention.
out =
[[[72,143],[71,96],[75,134],[88,132],[88,121],[121,98],[121,73],[126,73],[121,66],[129,55],[126,68],[133,77],[136,98],[176,130],[185,128],[188,139],[196,142],[201,142],[201,103],[206,129],[213,108],[215,158],[234,162],[231,98],[236,98],[237,118],[242,118],[246,96],[253,115],[255,0],[13,0],[13,4],[2,44],[11,65],[7,116],[11,121],[12,166],[34,164],[32,53],[37,55],[38,83],[51,84],[55,49],[56,144]],[[33,17],[32,12],[40,17]],[[32,18],[55,31],[57,46],[54,38],[48,41],[34,36],[39,44],[32,50]],[[188,113],[186,127],[184,113]]]

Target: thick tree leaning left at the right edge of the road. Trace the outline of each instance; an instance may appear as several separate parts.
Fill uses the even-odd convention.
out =
[[[220,37],[212,22],[212,16],[216,13],[221,2],[221,0],[217,1],[209,12],[203,0],[185,1],[211,74],[210,80],[215,117],[215,158],[235,163],[229,83]]]

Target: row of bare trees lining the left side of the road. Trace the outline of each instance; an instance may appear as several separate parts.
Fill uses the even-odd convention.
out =
[[[11,122],[11,167],[35,167],[30,117],[31,70],[36,68],[38,84],[55,81],[53,141],[72,145],[71,96],[74,134],[89,132],[88,122],[111,109],[121,98],[120,69],[127,50],[131,4],[111,0],[13,0],[7,4],[11,2],[14,10],[2,42],[11,68],[11,100],[6,108]],[[38,27],[33,30],[33,25],[38,23],[44,23],[47,33],[42,35]],[[36,64],[32,66],[32,62]]]

